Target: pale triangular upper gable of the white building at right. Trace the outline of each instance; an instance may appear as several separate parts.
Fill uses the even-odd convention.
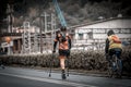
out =
[[[131,28],[131,20],[129,18],[116,18],[104,22],[97,22],[94,24],[83,25],[76,28]]]

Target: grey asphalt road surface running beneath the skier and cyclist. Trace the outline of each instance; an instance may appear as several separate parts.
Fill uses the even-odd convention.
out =
[[[108,78],[95,75],[70,74],[61,79],[60,72],[24,67],[0,67],[0,87],[131,87],[131,79]]]

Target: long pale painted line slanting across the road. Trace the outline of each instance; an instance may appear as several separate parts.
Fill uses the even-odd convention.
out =
[[[51,78],[40,78],[40,77],[31,77],[31,76],[23,76],[23,75],[13,75],[13,74],[8,74],[8,73],[0,73],[0,74],[1,75],[20,77],[20,78],[46,82],[46,83],[53,83],[53,84],[59,84],[59,85],[74,86],[74,87],[97,87],[97,86],[93,86],[93,85],[78,84],[78,83],[66,82],[66,80],[57,80],[57,79],[51,79]]]

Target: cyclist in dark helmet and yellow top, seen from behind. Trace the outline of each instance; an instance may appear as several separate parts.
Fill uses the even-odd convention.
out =
[[[121,52],[122,52],[122,45],[117,35],[115,35],[115,32],[111,29],[107,33],[107,39],[106,39],[106,47],[105,47],[105,52],[106,52],[106,60],[109,62],[109,65],[111,64],[111,59],[112,55],[117,52],[119,54],[117,55],[118,59],[120,59]]]

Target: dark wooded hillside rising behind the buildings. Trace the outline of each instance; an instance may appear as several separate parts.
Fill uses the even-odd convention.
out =
[[[128,4],[130,3],[129,1],[130,0],[58,0],[58,3],[68,25],[72,26],[99,18],[116,17],[118,14],[130,16],[131,7]],[[11,0],[10,3],[13,3],[14,26],[22,25],[24,20],[28,20],[39,26],[39,14],[55,9],[52,0]]]

